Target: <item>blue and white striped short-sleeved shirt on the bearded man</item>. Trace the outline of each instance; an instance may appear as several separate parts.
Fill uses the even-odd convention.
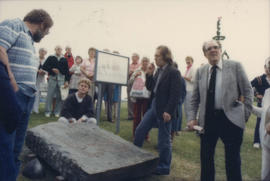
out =
[[[24,94],[32,96],[39,65],[32,34],[19,18],[1,22],[0,32],[0,46],[7,50],[15,80]]]

